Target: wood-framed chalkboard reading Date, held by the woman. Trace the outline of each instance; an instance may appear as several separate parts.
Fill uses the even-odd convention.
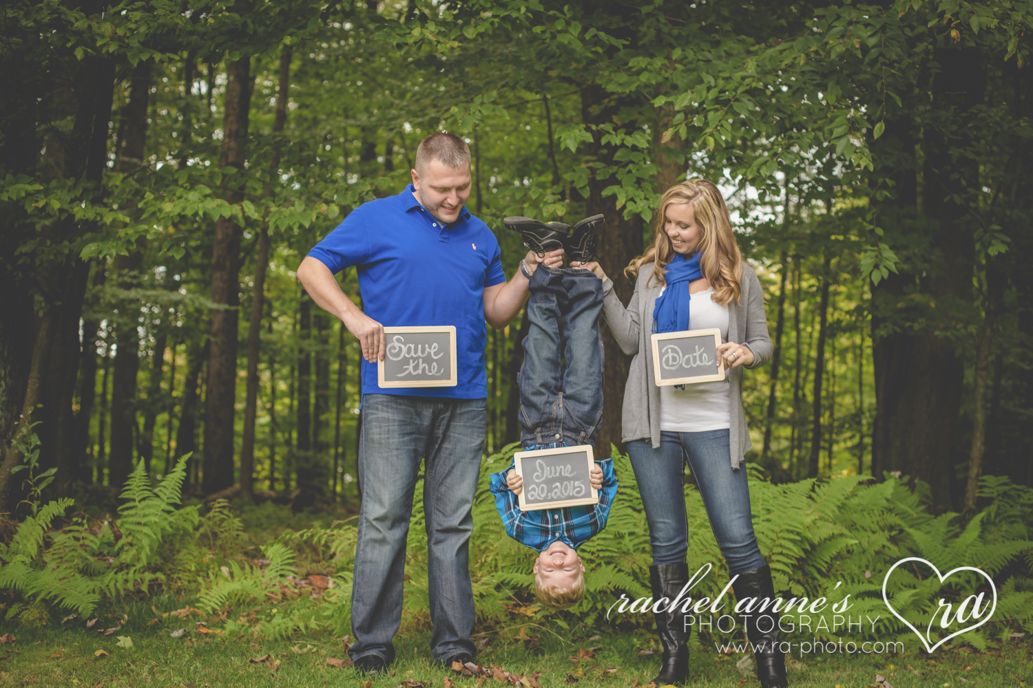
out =
[[[724,380],[724,361],[717,355],[721,330],[663,332],[653,335],[653,378],[658,387]]]

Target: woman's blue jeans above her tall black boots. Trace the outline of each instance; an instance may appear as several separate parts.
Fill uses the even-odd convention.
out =
[[[728,572],[742,574],[764,565],[753,534],[746,469],[731,467],[730,451],[728,430],[661,432],[659,449],[653,449],[649,439],[628,443],[628,456],[649,523],[654,566],[684,563],[686,559],[686,461],[696,479]]]

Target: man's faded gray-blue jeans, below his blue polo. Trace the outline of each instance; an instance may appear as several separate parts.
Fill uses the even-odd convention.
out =
[[[484,430],[484,399],[363,397],[363,506],[351,588],[355,643],[348,650],[353,660],[366,655],[395,660],[392,638],[402,622],[406,535],[421,459],[431,652],[436,659],[476,653],[467,563]]]

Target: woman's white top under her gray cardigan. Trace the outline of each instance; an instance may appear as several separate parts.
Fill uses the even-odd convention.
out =
[[[662,292],[661,292],[662,293]],[[728,306],[714,302],[714,290],[696,292],[689,306],[689,329],[721,330],[728,340]],[[727,374],[727,372],[725,373]],[[731,427],[728,379],[716,383],[685,385],[685,389],[660,388],[660,429],[671,432],[706,432]]]

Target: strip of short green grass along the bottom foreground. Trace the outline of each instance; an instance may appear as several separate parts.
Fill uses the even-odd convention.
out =
[[[160,602],[165,602],[164,604]],[[159,600],[159,611],[175,609],[174,600]],[[117,625],[129,618],[115,634],[102,636],[84,628],[83,622],[61,626],[50,621],[35,628],[4,629],[14,632],[18,643],[0,646],[0,686],[359,686],[362,680],[350,668],[326,665],[328,657],[344,658],[340,637],[327,632],[299,634],[291,641],[225,638],[215,633],[196,632],[194,619],[167,617],[154,624],[149,603],[132,602],[108,608],[95,628]],[[176,628],[188,631],[169,637]],[[591,629],[572,629],[558,636],[530,628],[528,640],[501,638],[497,633],[476,636],[488,646],[478,656],[484,665],[495,664],[512,674],[539,671],[542,688],[565,686],[568,675],[578,677],[580,688],[629,686],[635,680],[648,683],[659,665],[658,655],[640,655],[653,636],[641,630],[596,634]],[[132,648],[118,647],[118,637],[128,636]],[[398,661],[394,676],[373,680],[373,688],[395,688],[403,681],[433,681],[440,688],[445,676],[457,686],[476,686],[474,680],[459,679],[432,664],[427,628],[404,628],[396,638]],[[655,641],[653,641],[655,643]],[[694,644],[695,645],[695,644]],[[789,660],[793,686],[863,688],[875,683],[880,674],[894,686],[905,688],[991,688],[1033,686],[1033,651],[1025,640],[999,651],[979,653],[967,648],[939,649],[932,657],[919,650],[917,640],[907,643],[904,654],[891,655],[810,655]],[[106,655],[95,656],[98,650]],[[583,659],[574,662],[582,651]],[[585,656],[590,651],[591,656]],[[249,659],[264,654],[281,662],[274,673],[270,663],[252,664]],[[742,655],[718,654],[712,644],[694,648],[691,685],[758,686],[756,679],[737,668]],[[271,660],[272,661],[272,660]],[[601,676],[605,669],[616,671]],[[917,671],[917,673],[916,673]],[[490,680],[487,685],[496,685]],[[501,685],[501,684],[497,684]]]

